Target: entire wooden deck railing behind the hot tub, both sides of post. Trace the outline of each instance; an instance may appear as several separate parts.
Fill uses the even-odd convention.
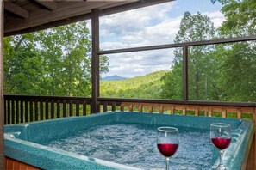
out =
[[[256,105],[253,103],[134,100],[98,98],[100,112],[156,112],[222,118],[247,118],[256,124]],[[84,116],[91,114],[91,98],[4,95],[4,124]],[[256,141],[247,159],[247,169],[256,169]]]

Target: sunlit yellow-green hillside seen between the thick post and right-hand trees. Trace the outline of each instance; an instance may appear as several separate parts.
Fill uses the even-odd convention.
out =
[[[160,78],[165,73],[165,70],[161,70],[126,80],[102,81],[101,97],[159,99],[162,85]]]

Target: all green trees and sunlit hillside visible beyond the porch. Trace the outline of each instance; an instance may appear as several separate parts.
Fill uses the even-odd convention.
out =
[[[185,12],[175,43],[240,37],[256,33],[256,0],[212,0],[226,21],[217,30],[208,16]],[[190,46],[189,100],[256,101],[255,41]],[[31,95],[91,95],[91,39],[84,21],[36,33],[6,37],[4,92]],[[170,71],[157,71],[100,84],[101,97],[183,99],[183,51]],[[100,56],[100,73],[108,58]]]

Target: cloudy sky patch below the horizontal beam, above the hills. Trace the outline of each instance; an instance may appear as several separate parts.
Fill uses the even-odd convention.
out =
[[[109,54],[107,57],[110,65],[107,75],[134,77],[156,70],[170,70],[174,58],[173,51],[174,49],[164,49]]]

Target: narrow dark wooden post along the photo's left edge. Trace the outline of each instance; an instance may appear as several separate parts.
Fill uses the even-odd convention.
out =
[[[3,110],[3,0],[0,0],[0,169],[4,169],[4,140],[3,140],[3,120],[4,120],[4,110]]]

